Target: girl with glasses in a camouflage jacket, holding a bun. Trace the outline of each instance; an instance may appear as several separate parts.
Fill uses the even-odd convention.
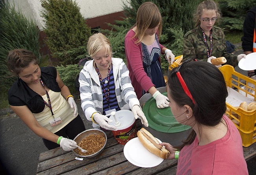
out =
[[[227,53],[223,30],[214,26],[221,17],[219,7],[213,0],[206,0],[198,5],[195,12],[195,29],[184,35],[183,59],[195,57],[211,63],[213,58],[225,57],[231,66],[245,58],[245,54],[233,55]],[[220,67],[218,65],[217,67]]]

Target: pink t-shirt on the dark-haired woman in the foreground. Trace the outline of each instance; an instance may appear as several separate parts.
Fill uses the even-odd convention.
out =
[[[177,175],[248,175],[242,139],[233,122],[223,115],[228,131],[219,140],[198,146],[196,137],[180,151]]]

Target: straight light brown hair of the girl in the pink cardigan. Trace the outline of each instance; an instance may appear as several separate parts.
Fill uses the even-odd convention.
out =
[[[152,29],[158,26],[158,35],[161,36],[162,32],[162,16],[158,6],[152,2],[145,2],[139,6],[137,11],[136,17],[136,24],[137,27],[136,34],[134,38],[138,38],[136,43],[142,41],[145,31],[149,28]]]

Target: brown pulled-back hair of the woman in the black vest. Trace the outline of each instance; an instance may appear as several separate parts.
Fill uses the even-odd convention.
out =
[[[7,56],[7,66],[15,75],[19,73],[31,63],[39,64],[39,60],[35,55],[26,49],[14,49]]]

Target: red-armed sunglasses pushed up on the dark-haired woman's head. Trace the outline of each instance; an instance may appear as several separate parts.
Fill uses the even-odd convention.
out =
[[[193,104],[195,104],[195,100],[194,100],[194,98],[192,97],[192,94],[190,93],[189,89],[187,88],[187,85],[186,85],[184,79],[182,78],[182,76],[180,75],[180,72],[179,72],[180,67],[181,67],[183,64],[185,64],[186,62],[189,62],[189,61],[191,61],[191,60],[197,61],[195,58],[189,58],[189,59],[185,60],[180,66],[178,66],[178,67],[171,73],[171,76],[173,75],[173,73],[176,73],[176,75],[177,75],[177,77],[178,77],[178,79],[179,79],[179,81],[180,81],[180,84],[181,84],[183,90],[185,91],[186,95],[192,100]]]

